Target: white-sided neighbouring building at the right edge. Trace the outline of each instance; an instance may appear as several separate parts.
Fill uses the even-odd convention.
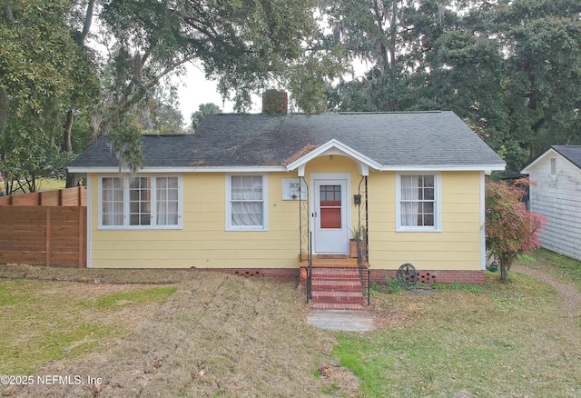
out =
[[[530,210],[548,225],[538,238],[544,248],[581,260],[581,145],[553,145],[523,170],[530,187]]]

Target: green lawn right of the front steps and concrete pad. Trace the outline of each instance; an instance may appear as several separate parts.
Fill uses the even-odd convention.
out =
[[[546,251],[526,261],[558,273],[581,269]],[[376,292],[374,301],[392,324],[340,333],[333,354],[369,397],[581,395],[581,322],[561,316],[562,301],[551,286],[516,273],[507,284],[497,278],[487,273],[480,293]]]

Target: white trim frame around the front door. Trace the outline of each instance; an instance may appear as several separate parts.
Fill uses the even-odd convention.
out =
[[[317,247],[318,243],[318,229],[317,222],[319,221],[320,209],[318,207],[319,190],[316,189],[317,181],[338,181],[345,186],[345,192],[341,192],[341,231],[336,234],[338,236],[337,242],[340,248],[335,250],[320,250]],[[313,254],[349,254],[349,238],[350,238],[350,193],[351,193],[351,174],[350,173],[311,173],[310,186],[312,187],[310,194],[310,208],[313,209],[310,217],[310,230],[312,234],[311,247]],[[320,236],[319,236],[320,238]]]

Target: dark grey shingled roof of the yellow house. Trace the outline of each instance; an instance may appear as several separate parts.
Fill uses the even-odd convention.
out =
[[[502,166],[452,112],[206,115],[195,134],[144,135],[144,167],[286,165],[336,139],[385,168]],[[71,167],[117,166],[111,144],[92,144]]]

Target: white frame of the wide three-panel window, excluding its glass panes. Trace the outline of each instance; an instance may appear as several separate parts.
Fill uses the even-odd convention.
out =
[[[157,225],[157,178],[172,177],[178,179],[178,224]],[[123,225],[103,225],[103,178],[120,178],[123,183]],[[131,225],[130,224],[130,183],[133,178],[149,178],[151,182],[151,224]],[[148,230],[148,229],[182,229],[183,196],[182,196],[182,175],[181,174],[136,174],[133,178],[119,174],[99,175],[99,200],[98,200],[98,229],[100,230]]]

